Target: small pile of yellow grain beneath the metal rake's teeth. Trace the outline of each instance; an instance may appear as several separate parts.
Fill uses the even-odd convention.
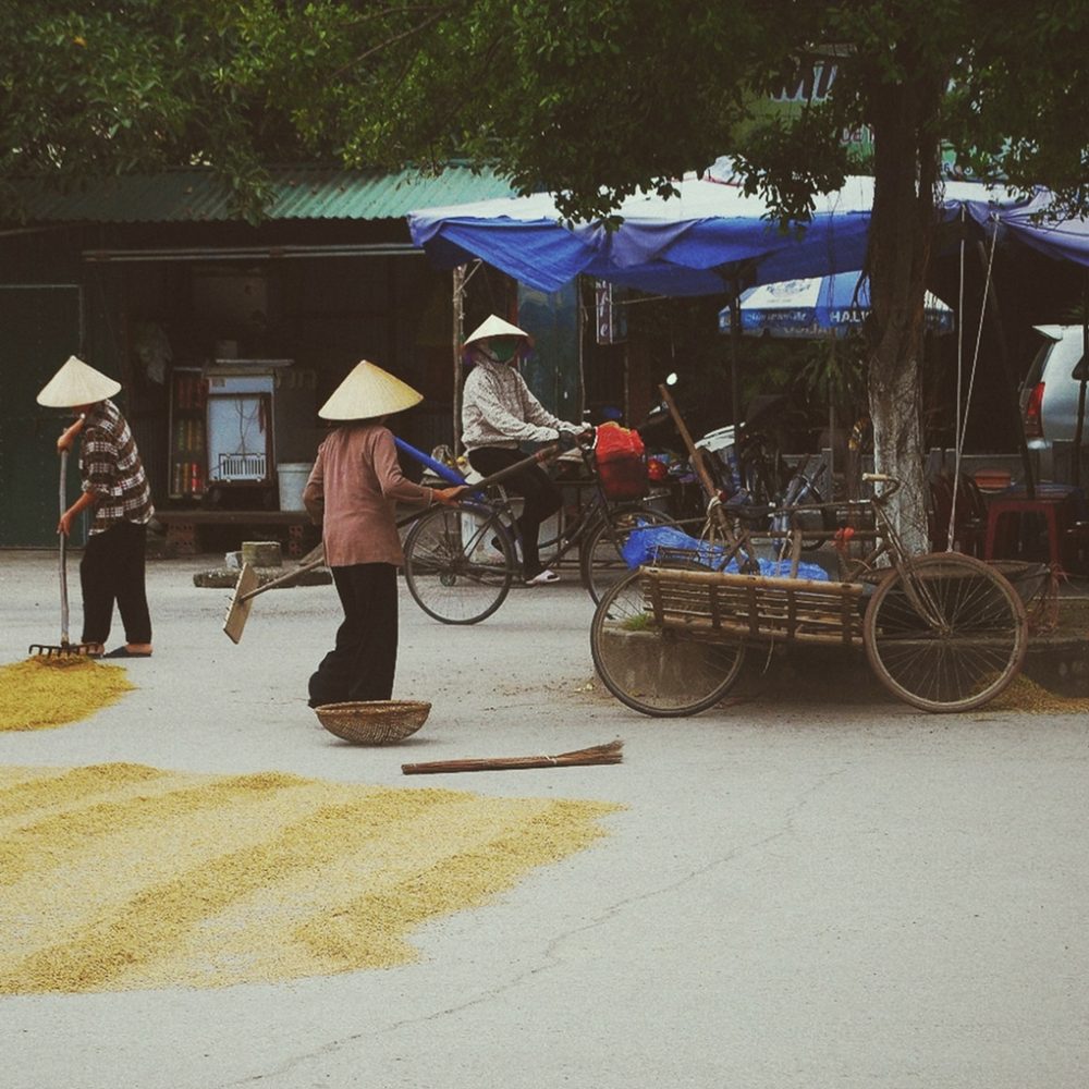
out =
[[[124,666],[69,654],[0,666],[0,731],[48,730],[117,702],[131,684]]]

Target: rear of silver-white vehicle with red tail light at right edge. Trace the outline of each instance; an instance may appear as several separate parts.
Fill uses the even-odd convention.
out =
[[[1078,424],[1078,396],[1086,372],[1082,326],[1033,326],[1044,338],[1020,388],[1025,438],[1032,449],[1073,442]],[[1082,440],[1089,446],[1089,397]]]

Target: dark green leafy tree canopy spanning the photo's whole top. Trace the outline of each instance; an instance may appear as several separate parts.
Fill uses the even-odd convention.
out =
[[[253,211],[265,163],[469,157],[604,215],[731,151],[798,215],[846,172],[840,133],[913,83],[966,167],[1084,204],[1087,32],[1078,0],[14,0],[0,178],[207,163]],[[823,103],[746,125],[815,59]]]

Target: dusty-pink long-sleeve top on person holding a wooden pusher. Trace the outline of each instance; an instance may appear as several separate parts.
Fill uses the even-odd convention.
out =
[[[394,507],[435,501],[401,473],[393,432],[378,420],[344,424],[318,448],[303,503],[321,525],[326,563],[404,563]]]

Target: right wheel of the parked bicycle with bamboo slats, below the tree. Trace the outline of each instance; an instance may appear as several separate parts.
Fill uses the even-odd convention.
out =
[[[974,556],[935,553],[907,561],[878,586],[862,641],[893,695],[925,711],[970,711],[1017,675],[1028,623],[996,571]]]

